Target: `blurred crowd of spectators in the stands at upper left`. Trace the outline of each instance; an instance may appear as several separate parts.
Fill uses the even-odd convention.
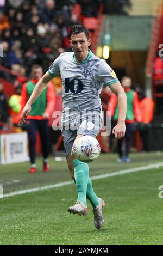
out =
[[[0,43],[3,46],[0,64],[20,73],[20,76],[29,77],[30,68],[36,63],[46,71],[60,53],[70,51],[70,27],[80,23],[78,15],[73,12],[74,4],[81,5],[82,15],[97,17],[100,3],[105,5],[105,12],[107,6],[114,12],[115,3],[122,9],[122,5],[128,2],[3,0],[0,4]]]

